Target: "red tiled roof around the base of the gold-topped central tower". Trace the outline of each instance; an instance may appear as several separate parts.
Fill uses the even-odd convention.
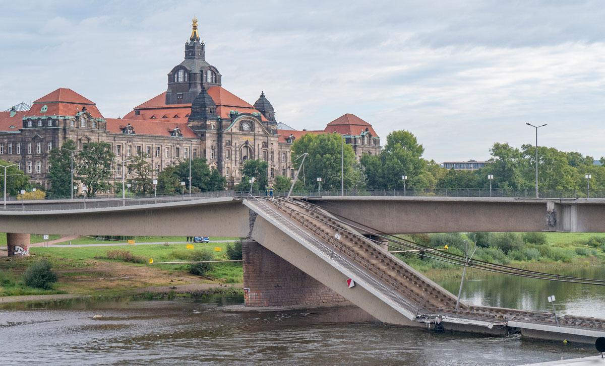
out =
[[[208,88],[208,94],[217,104],[217,115],[223,119],[231,118],[229,112],[238,111],[241,113],[259,113],[252,104],[233,94],[227,89],[221,86],[211,86]],[[139,110],[139,115],[136,115],[134,111],[128,112],[124,118],[131,119],[144,119],[149,120],[155,115],[155,118],[162,119],[163,115],[168,118],[164,118],[165,121],[181,121],[186,122],[188,115],[191,113],[191,104],[166,104],[166,92],[157,95],[143,104],[139,104],[134,109]],[[174,118],[174,115],[178,114],[178,118]],[[261,120],[266,121],[267,119],[261,114]]]

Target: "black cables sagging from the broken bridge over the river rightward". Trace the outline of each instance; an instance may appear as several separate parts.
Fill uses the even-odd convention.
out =
[[[278,200],[285,201],[280,198],[278,198]],[[286,201],[286,202],[293,203],[295,205],[298,205],[299,207],[304,207],[304,205],[298,204],[298,202],[293,202],[293,201]],[[313,211],[315,213],[324,215],[324,213],[321,213],[320,211],[317,211],[317,210],[313,210],[312,208],[309,208],[309,207],[304,207],[304,208],[307,208],[310,211]],[[322,210],[324,210],[324,209],[322,208]],[[325,211],[330,213],[330,211],[328,211],[328,210],[325,210]],[[305,213],[301,213],[301,214],[312,217]],[[332,214],[334,214],[334,213],[332,213]],[[312,217],[312,218],[315,220],[319,220],[316,217]],[[352,226],[353,228],[361,228],[356,225],[351,225],[350,223],[345,223],[338,218],[336,218],[336,220],[343,223],[344,225]],[[363,237],[363,239],[370,240],[371,242],[374,242],[377,244],[383,244],[381,242],[378,242],[378,240],[373,240],[373,239],[367,238],[365,236],[362,236],[359,233],[354,233],[352,231],[344,230],[344,228],[339,228],[338,226],[335,226],[332,223],[325,222],[323,220],[319,220],[319,221],[322,223],[325,223],[326,225],[330,225],[330,226],[336,228],[337,230],[346,231],[347,233],[350,233],[355,236],[361,236],[361,237]],[[355,222],[353,220],[350,220],[350,221]],[[358,223],[358,222],[355,222],[355,223]],[[358,224],[362,225],[360,223],[358,223]],[[364,230],[365,229],[373,230],[373,228],[370,228],[366,225],[363,225],[363,226],[364,227],[362,229],[364,229]],[[380,233],[380,231],[376,231],[376,232]],[[382,233],[382,234],[385,234],[385,233]],[[390,240],[391,242],[396,242],[401,245],[407,246],[408,248],[413,248],[414,250],[418,250],[419,253],[417,255],[419,255],[420,257],[431,258],[433,260],[439,260],[439,261],[445,262],[445,263],[468,266],[470,268],[477,268],[477,269],[482,269],[483,271],[495,272],[495,273],[500,273],[500,274],[517,275],[519,277],[537,278],[537,279],[541,279],[541,280],[552,280],[552,281],[560,281],[560,282],[568,282],[568,283],[595,284],[595,285],[599,285],[599,286],[605,285],[605,281],[602,281],[602,280],[594,280],[594,279],[590,279],[590,278],[570,277],[570,276],[548,274],[548,273],[543,273],[543,272],[528,271],[528,270],[524,270],[524,269],[520,269],[520,268],[497,265],[495,263],[489,263],[489,262],[478,261],[478,260],[472,260],[467,263],[465,257],[459,256],[456,254],[445,254],[443,252],[434,252],[434,254],[437,256],[437,257],[434,257],[433,255],[426,254],[426,252],[425,252],[427,250],[434,250],[434,248],[430,248],[428,246],[422,246],[422,245],[419,245],[419,244],[411,242],[411,241],[410,241],[410,243],[400,242],[399,240],[391,239],[382,234],[378,234],[376,236],[383,237],[384,239]],[[401,239],[401,238],[397,238],[397,239]],[[392,244],[387,244],[387,245],[390,246],[391,248],[403,249],[401,246],[396,246],[396,245],[392,245]]]

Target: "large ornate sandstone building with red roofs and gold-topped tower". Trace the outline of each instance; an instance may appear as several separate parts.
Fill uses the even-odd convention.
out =
[[[165,92],[123,118],[103,117],[96,103],[68,88],[50,92],[30,108],[19,104],[0,112],[0,159],[15,162],[47,187],[53,147],[66,140],[76,141],[78,149],[90,141],[105,141],[119,157],[145,156],[154,176],[184,159],[206,158],[232,186],[240,181],[246,159],[267,161],[270,181],[277,175],[293,176],[290,147],[306,133],[340,133],[358,157],[381,149],[371,124],[353,114],[336,118],[324,130],[278,128],[264,92],[250,104],[223,88],[218,68],[206,61],[194,19],[185,59],[168,73]],[[114,180],[121,176],[117,164]]]

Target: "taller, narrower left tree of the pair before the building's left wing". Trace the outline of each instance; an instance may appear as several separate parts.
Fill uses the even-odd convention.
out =
[[[48,196],[50,197],[70,197],[73,187],[71,185],[71,152],[73,151],[73,169],[77,171],[76,143],[73,140],[67,140],[62,147],[50,150],[48,164]],[[74,177],[74,179],[76,179]]]

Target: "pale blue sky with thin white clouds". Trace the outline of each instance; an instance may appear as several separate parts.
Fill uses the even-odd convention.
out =
[[[494,142],[605,155],[601,1],[5,1],[0,110],[56,88],[123,116],[166,90],[197,16],[206,60],[276,119],[345,113],[386,143],[405,129],[437,162]]]

